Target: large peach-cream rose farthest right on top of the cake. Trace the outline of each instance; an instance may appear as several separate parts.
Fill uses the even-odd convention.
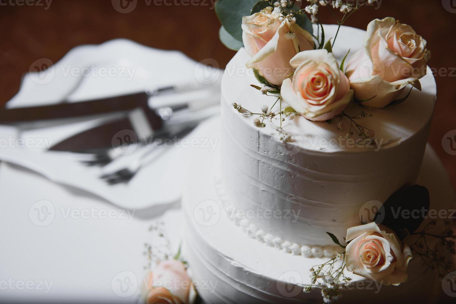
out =
[[[345,74],[355,98],[363,105],[387,106],[408,84],[420,88],[426,75],[430,51],[426,41],[409,25],[394,18],[369,23],[364,46],[350,58]]]

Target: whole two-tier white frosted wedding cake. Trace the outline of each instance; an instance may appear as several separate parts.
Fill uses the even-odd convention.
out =
[[[325,25],[325,30],[333,37],[337,26]],[[365,33],[342,27],[334,51],[339,62],[349,47],[363,46]],[[265,109],[275,97],[250,86],[259,82],[245,67],[249,59],[240,49],[229,62],[221,117],[196,135],[220,137],[221,145],[214,153],[196,150],[192,156],[194,176],[182,202],[185,256],[207,303],[319,303],[327,282],[310,288],[309,269],[337,261],[346,250],[347,229],[361,225],[361,216],[372,222],[373,207],[415,183],[429,189],[432,209],[449,209],[454,202],[441,164],[430,148],[425,154],[436,99],[434,77],[427,73],[420,80],[421,91],[413,90],[407,101],[388,109],[352,102],[344,110],[347,116],[330,122],[283,113],[287,117],[280,133],[280,119],[259,127],[254,116],[239,112],[242,105],[252,113],[280,115],[287,106],[279,102]],[[358,116],[360,112],[366,115]],[[374,139],[350,140],[350,129],[358,125],[373,130]],[[351,281],[333,298],[340,303],[435,301],[437,274],[419,257],[406,272],[407,282],[387,286],[345,269]]]

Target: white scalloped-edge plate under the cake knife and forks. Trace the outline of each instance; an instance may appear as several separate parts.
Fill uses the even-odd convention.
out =
[[[103,72],[109,69],[113,72]],[[80,76],[81,73],[88,76]],[[181,52],[156,50],[118,39],[78,46],[47,71],[27,74],[20,91],[6,106],[38,106],[62,99],[77,102],[194,81],[212,84],[221,76],[219,69],[206,68]],[[210,94],[213,92],[198,91],[177,98],[204,99]],[[150,99],[150,103],[160,105],[170,98],[157,97]],[[30,168],[54,182],[83,189],[122,208],[177,202],[181,196],[183,181],[179,172],[185,148],[169,148],[128,184],[114,186],[98,178],[99,167],[86,167],[67,152],[44,152],[53,143],[95,127],[105,119],[77,120],[63,126],[51,123],[41,128],[0,126],[0,138],[9,139],[1,146],[0,160]]]

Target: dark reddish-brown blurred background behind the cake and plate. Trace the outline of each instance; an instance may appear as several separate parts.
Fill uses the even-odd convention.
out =
[[[123,37],[146,46],[179,50],[196,61],[214,58],[222,68],[234,55],[218,40],[219,21],[210,0],[197,0],[197,6],[184,6],[182,0],[167,0],[172,5],[160,6],[136,0],[135,10],[126,14],[116,11],[109,0],[53,0],[47,10],[45,2],[41,2],[44,6],[10,4],[19,1],[0,1],[6,4],[0,6],[1,104],[16,94],[21,75],[33,61],[48,58],[56,62],[80,44]],[[445,10],[441,0],[383,0],[378,10],[363,7],[346,25],[365,29],[369,21],[386,16],[412,25],[428,41],[431,67],[448,71],[456,67],[456,14]],[[321,11],[321,19],[334,23],[327,10]],[[446,132],[456,129],[456,71],[453,77],[437,76],[436,80],[438,100],[429,141],[456,188],[456,156],[446,153],[441,143]]]

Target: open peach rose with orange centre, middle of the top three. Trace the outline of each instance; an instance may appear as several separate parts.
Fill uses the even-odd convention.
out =
[[[339,70],[333,53],[303,51],[290,61],[293,79],[283,81],[282,99],[302,116],[325,121],[338,115],[352,100],[348,79]]]

